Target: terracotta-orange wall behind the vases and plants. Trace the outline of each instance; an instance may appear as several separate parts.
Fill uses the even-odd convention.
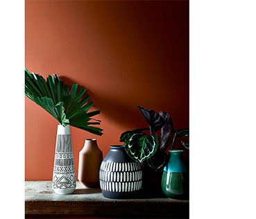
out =
[[[103,136],[71,127],[78,152],[105,156],[121,132],[146,127],[141,105],[189,126],[188,1],[26,1],[26,68],[87,88]],[[51,180],[58,122],[26,98],[26,180]]]

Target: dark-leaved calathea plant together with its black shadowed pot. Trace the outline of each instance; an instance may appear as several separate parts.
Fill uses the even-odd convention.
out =
[[[148,191],[151,195],[159,195],[162,170],[169,160],[167,149],[169,146],[173,149],[178,137],[187,137],[189,130],[175,130],[167,112],[160,111],[158,114],[153,109],[138,108],[148,127],[123,132],[120,141],[124,143],[128,155],[142,164],[143,189],[146,195],[149,195]],[[189,144],[181,141],[181,146],[188,148]]]

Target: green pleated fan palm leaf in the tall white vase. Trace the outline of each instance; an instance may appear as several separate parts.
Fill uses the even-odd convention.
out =
[[[93,101],[89,101],[88,94],[85,95],[85,88],[82,87],[77,91],[77,84],[73,84],[69,91],[69,86],[65,85],[56,74],[44,80],[39,74],[29,73],[25,69],[25,95],[28,98],[51,114],[60,125],[64,127],[72,125],[102,135],[101,128],[92,126],[100,125],[101,121],[92,119],[92,116],[99,114],[100,110],[88,112],[94,105]]]

